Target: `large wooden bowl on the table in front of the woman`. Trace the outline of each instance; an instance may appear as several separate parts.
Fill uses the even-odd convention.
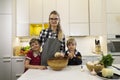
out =
[[[47,60],[48,66],[55,71],[62,70],[68,64],[68,58],[50,58]]]

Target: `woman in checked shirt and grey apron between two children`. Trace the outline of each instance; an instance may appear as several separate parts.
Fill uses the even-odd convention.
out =
[[[41,64],[47,65],[47,59],[54,57],[56,52],[65,52],[65,36],[60,25],[60,16],[57,11],[49,15],[49,28],[40,32],[39,40],[42,43]]]

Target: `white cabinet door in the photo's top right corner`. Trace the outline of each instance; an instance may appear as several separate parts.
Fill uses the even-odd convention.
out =
[[[107,13],[120,13],[120,0],[106,0]]]

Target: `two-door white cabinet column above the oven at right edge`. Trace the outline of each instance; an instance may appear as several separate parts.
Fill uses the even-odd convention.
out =
[[[120,0],[106,0],[107,34],[120,34]]]

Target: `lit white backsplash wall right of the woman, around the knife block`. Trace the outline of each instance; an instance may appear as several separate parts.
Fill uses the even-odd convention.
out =
[[[67,37],[68,38],[68,37]],[[95,52],[95,39],[100,40],[101,51],[106,52],[106,36],[86,36],[86,37],[74,37],[77,41],[77,49],[84,56],[92,56]]]

